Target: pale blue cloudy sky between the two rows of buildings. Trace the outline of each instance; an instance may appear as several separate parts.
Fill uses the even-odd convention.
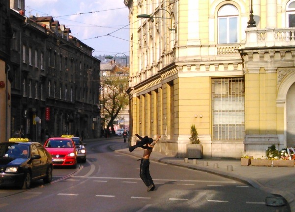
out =
[[[129,55],[128,14],[124,0],[25,0],[27,17],[53,16],[94,48],[93,56]]]

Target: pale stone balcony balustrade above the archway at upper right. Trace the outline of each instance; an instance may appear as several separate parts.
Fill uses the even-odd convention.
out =
[[[247,28],[246,48],[295,46],[295,28]]]

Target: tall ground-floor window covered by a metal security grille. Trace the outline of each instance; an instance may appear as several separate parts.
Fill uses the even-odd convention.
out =
[[[212,79],[212,141],[243,140],[245,92],[243,78]]]

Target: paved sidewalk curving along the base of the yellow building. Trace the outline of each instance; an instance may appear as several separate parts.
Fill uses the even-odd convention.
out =
[[[141,158],[143,154],[142,149],[135,149],[130,153],[128,143],[123,142],[114,144],[111,149],[138,158]],[[156,151],[152,152],[150,160],[243,181],[255,188],[282,196],[289,203],[291,212],[295,212],[295,167],[241,166],[240,160],[223,159],[189,159],[185,162],[184,158],[166,156]]]

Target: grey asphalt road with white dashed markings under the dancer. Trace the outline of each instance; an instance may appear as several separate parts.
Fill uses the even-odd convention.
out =
[[[87,143],[87,162],[76,170],[54,168],[51,184],[1,189],[0,211],[287,212],[266,206],[271,194],[244,183],[156,162],[150,164],[156,189],[147,192],[139,178],[140,161],[111,151],[114,142]]]

